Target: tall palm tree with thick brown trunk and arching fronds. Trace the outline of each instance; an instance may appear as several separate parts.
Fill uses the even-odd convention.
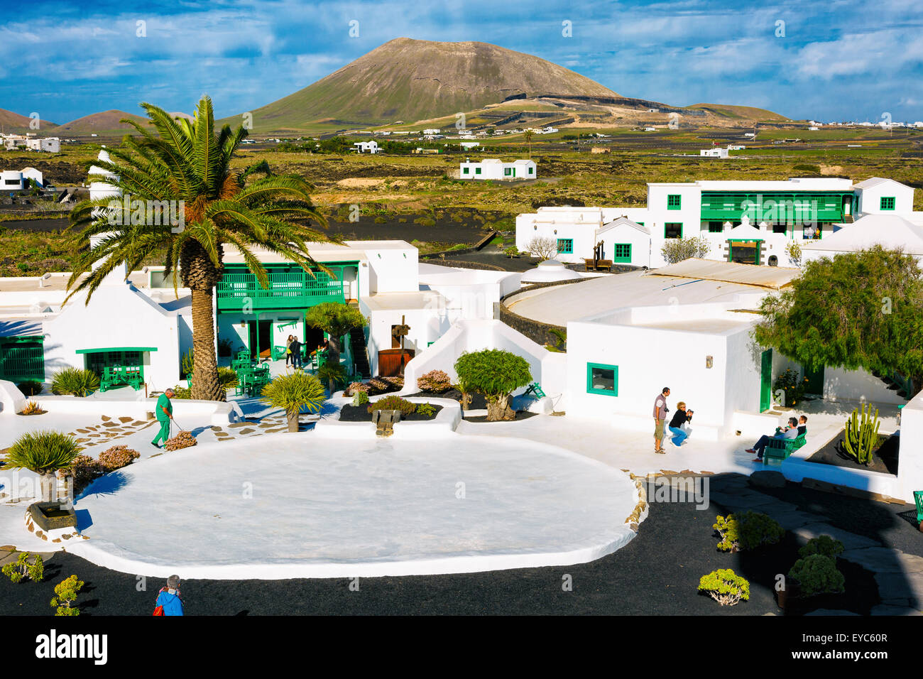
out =
[[[147,258],[162,258],[163,273],[173,275],[174,288],[178,274],[192,292],[196,357],[192,397],[223,401],[212,310],[213,290],[224,269],[222,246],[238,249],[250,272],[267,288],[269,276],[252,249],[278,253],[310,273],[317,263],[307,244],[329,241],[310,224],[326,227],[327,222],[311,202],[313,187],[300,177],[272,176],[266,164],[242,172],[231,170],[234,152],[247,132],[244,127],[232,131],[228,125],[216,130],[209,97],[198,102],[193,120],[174,120],[150,103],[141,107],[156,134],[148,126],[123,120],[140,136],[126,135],[120,148],[107,149],[110,161],[92,164],[112,173],[114,177],[105,181],[132,200],[182,201],[185,227],[122,225],[122,221],[132,221],[127,219],[116,220],[119,225],[114,226],[110,217],[120,211],[110,206],[111,198],[81,202],[70,214],[69,228],[78,229],[80,244],[90,236],[100,239],[78,256],[67,282],[68,298],[86,290],[89,303],[102,280],[122,261],[133,271]],[[292,221],[297,218],[310,221],[308,225]],[[81,280],[83,274],[87,275]]]

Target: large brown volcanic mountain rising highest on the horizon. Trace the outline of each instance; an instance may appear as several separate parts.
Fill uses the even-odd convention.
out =
[[[253,111],[255,131],[412,122],[510,96],[617,97],[557,64],[485,42],[386,42],[303,90]],[[239,123],[240,116],[222,122]]]

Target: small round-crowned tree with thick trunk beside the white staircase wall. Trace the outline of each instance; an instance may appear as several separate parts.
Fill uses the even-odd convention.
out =
[[[466,351],[455,361],[455,372],[466,389],[485,395],[488,421],[515,418],[509,394],[532,382],[525,358],[502,349]]]

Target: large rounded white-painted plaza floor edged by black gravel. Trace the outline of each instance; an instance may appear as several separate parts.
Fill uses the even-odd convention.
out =
[[[579,564],[634,537],[626,474],[543,443],[320,432],[201,444],[91,486],[68,545],[126,573],[407,576]]]

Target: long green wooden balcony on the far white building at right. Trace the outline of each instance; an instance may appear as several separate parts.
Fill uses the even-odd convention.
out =
[[[739,221],[748,212],[751,222],[812,223],[842,222],[844,204],[851,204],[852,193],[709,193],[701,194],[701,219]],[[745,203],[749,201],[747,206]]]

